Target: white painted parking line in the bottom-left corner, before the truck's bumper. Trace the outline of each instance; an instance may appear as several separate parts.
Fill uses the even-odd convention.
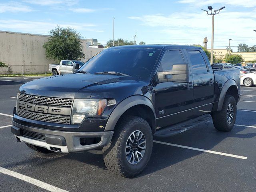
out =
[[[20,174],[20,173],[8,170],[8,169],[3,168],[3,167],[0,167],[0,173],[3,173],[3,174],[6,174],[6,175],[9,175],[9,176],[18,178],[20,180],[26,181],[26,182],[28,182],[30,184],[33,184],[35,186],[38,186],[40,188],[43,188],[43,189],[51,191],[51,192],[68,192],[68,191],[66,191],[64,189],[52,186],[52,185],[47,184],[45,182],[42,182],[42,181],[39,181],[37,179],[31,178],[29,176],[26,176],[26,175],[23,175],[23,174]]]

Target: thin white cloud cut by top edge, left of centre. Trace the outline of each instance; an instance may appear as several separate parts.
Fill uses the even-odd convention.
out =
[[[78,0],[23,0],[30,4],[36,4],[41,6],[51,6],[56,4],[65,4],[67,6],[72,6],[78,3]]]

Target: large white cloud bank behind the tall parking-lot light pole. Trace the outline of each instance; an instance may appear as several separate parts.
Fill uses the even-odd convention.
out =
[[[154,34],[150,41],[152,43],[202,44],[203,38],[208,37],[210,45],[212,17],[205,12],[175,12],[170,15],[152,14],[129,18],[152,29],[149,32]],[[233,45],[241,41],[255,44],[255,38],[246,38],[256,36],[253,31],[255,26],[256,15],[253,12],[222,12],[215,16],[214,45],[227,46],[229,38],[233,38]],[[157,34],[159,39],[154,41]],[[161,36],[165,39],[161,40]]]

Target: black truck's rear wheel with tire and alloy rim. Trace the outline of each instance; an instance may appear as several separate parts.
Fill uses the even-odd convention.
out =
[[[236,100],[226,95],[222,110],[212,114],[214,127],[219,131],[231,131],[236,121]]]

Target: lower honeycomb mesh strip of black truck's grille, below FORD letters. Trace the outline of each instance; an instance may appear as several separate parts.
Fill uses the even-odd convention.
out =
[[[17,114],[18,116],[28,118],[28,119],[38,120],[38,121],[46,121],[46,122],[54,122],[54,123],[62,123],[62,124],[70,123],[70,116],[36,113],[36,112],[27,111],[24,109],[17,109]]]

